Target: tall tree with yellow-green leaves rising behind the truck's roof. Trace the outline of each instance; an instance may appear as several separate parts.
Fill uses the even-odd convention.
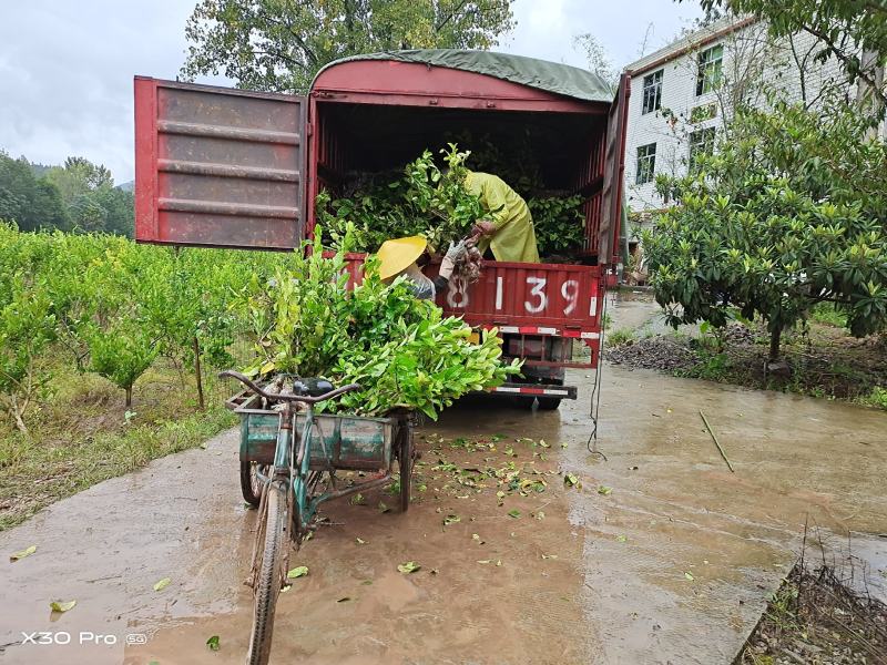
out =
[[[513,0],[201,0],[182,75],[305,92],[325,64],[397,49],[489,49],[514,25]]]

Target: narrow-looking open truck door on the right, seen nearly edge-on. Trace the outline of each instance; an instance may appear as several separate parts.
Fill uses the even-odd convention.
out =
[[[622,219],[622,193],[625,175],[625,132],[629,117],[631,78],[622,74],[619,91],[610,106],[606,122],[606,153],[603,171],[603,202],[601,224],[598,227],[598,264],[619,263],[619,232]]]

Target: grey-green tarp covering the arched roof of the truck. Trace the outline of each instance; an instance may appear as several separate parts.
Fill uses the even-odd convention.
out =
[[[578,66],[570,66],[569,64],[548,62],[523,55],[495,53],[492,51],[460,51],[456,49],[385,51],[336,60],[327,64],[320,72],[327,68],[354,60],[418,62],[496,76],[512,83],[521,83],[530,88],[538,88],[539,90],[590,102],[613,101],[613,91],[610,90],[603,79],[593,72]],[[320,72],[318,72],[318,76]]]

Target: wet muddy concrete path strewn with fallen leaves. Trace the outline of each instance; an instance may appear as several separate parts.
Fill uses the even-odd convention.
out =
[[[881,412],[605,368],[602,461],[585,449],[588,388],[580,398],[560,412],[453,409],[422,430],[426,489],[408,513],[379,512],[379,501],[396,503],[383,492],[330,504],[334,524],[293,555],[310,572],[282,595],[272,662],[728,663],[805,522],[854,539],[887,533]],[[39,549],[0,561],[0,663],[242,662],[255,512],[239,497],[236,439],[226,432],[1,533],[4,553]],[[496,482],[460,484],[447,471],[512,461],[546,491],[500,500]],[[459,522],[445,526],[450,514]],[[398,573],[410,560],[422,569]],[[72,598],[50,616],[50,601]],[[67,632],[72,644],[22,645],[22,631]],[[118,643],[75,646],[81,631]],[[124,647],[126,634],[147,643]]]

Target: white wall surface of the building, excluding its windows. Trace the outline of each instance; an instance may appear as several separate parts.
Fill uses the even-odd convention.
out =
[[[724,49],[724,83],[716,91],[697,95],[699,53],[716,44]],[[625,145],[625,201],[629,208],[650,212],[667,205],[655,192],[654,182],[635,182],[640,146],[656,144],[655,174],[681,176],[687,171],[691,132],[715,127],[720,133],[732,113],[735,99],[763,106],[767,103],[767,89],[773,90],[778,99],[809,104],[815,104],[826,89],[834,86],[855,94],[835,59],[825,63],[815,61],[818,51],[815,38],[807,33],[773,41],[762,23],[748,23],[731,31],[720,22],[708,31],[699,31],[629,65],[626,69],[632,72],[643,70],[633,73],[631,82]],[[645,69],[656,61],[662,63]],[[642,113],[644,78],[656,71],[662,71],[661,108]],[[737,81],[751,84],[738,88]],[[691,122],[693,109],[708,104],[715,105],[715,117]]]

